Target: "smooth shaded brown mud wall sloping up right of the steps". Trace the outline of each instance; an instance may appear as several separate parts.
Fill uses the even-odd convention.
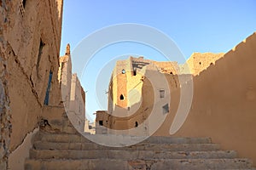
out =
[[[253,33],[194,77],[189,116],[175,136],[211,137],[224,150],[237,150],[238,156],[251,158],[256,165],[255,48]],[[179,99],[179,90],[172,93],[172,99],[176,98]],[[178,102],[155,135],[170,135],[177,105]]]

